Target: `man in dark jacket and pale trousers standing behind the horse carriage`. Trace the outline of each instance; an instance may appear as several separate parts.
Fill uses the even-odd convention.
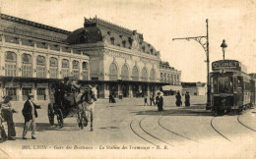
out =
[[[33,102],[33,95],[28,95],[28,100],[24,103],[23,108],[23,116],[25,119],[24,131],[23,131],[23,139],[27,138],[27,132],[29,131],[30,127],[32,127],[32,139],[35,138],[35,118],[37,118],[36,109],[40,109],[39,105],[34,104]]]

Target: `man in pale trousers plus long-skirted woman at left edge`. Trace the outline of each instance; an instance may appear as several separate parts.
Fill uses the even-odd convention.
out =
[[[13,120],[13,113],[18,113],[11,104],[13,98],[9,95],[4,97],[4,101],[0,103],[0,142],[8,140],[15,140],[16,131]],[[22,110],[25,125],[23,131],[23,139],[27,138],[27,133],[32,127],[32,139],[35,139],[35,118],[37,118],[36,109],[40,106],[33,103],[33,95],[28,95],[28,100],[24,104]],[[7,127],[7,128],[6,128]]]

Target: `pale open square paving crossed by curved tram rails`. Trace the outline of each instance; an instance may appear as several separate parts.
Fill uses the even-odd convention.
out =
[[[255,109],[240,116],[215,117],[211,111],[205,110],[205,96],[191,96],[190,107],[176,107],[174,96],[164,97],[163,112],[158,112],[156,106],[144,106],[143,103],[143,98],[117,99],[116,103],[99,99],[96,102],[95,129],[91,132],[90,127],[80,130],[76,117],[65,118],[62,129],[50,126],[47,102],[37,102],[42,107],[37,111],[37,137],[23,140],[21,112],[24,103],[12,102],[19,111],[14,115],[17,136],[14,141],[0,143],[0,155],[74,158],[86,152],[88,157],[95,158],[129,158],[131,153],[138,158],[256,157]]]

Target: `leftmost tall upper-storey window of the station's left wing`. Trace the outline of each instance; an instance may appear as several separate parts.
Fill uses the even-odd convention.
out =
[[[5,53],[5,76],[17,76],[17,55],[14,52],[7,51]]]

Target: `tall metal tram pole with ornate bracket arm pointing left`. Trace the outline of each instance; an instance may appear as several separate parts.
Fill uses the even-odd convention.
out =
[[[177,39],[194,39],[197,42],[201,44],[201,46],[204,48],[206,52],[206,63],[207,63],[207,103],[206,103],[206,110],[211,109],[211,84],[210,84],[210,59],[209,59],[209,33],[208,33],[208,19],[206,20],[206,36],[195,36],[195,37],[183,37],[183,38],[172,38],[172,40],[177,40]],[[202,39],[205,39],[206,41],[202,41]]]

